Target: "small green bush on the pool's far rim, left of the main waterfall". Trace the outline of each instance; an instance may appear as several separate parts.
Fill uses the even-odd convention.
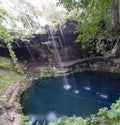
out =
[[[54,77],[56,75],[56,71],[54,68],[49,67],[47,69],[44,69],[40,72],[40,77],[41,78],[50,78]]]

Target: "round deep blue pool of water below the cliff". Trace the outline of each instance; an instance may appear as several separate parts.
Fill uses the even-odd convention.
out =
[[[82,72],[67,76],[70,89],[62,77],[34,81],[21,95],[23,112],[30,123],[49,123],[62,116],[82,116],[110,107],[120,97],[120,74]]]

